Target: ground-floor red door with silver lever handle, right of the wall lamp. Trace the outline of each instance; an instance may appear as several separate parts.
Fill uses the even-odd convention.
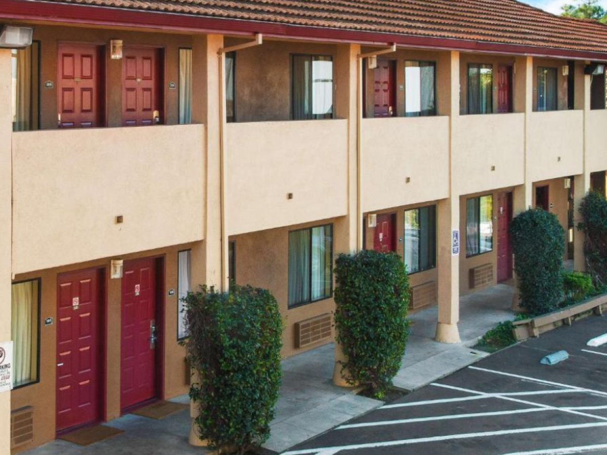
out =
[[[125,262],[120,346],[122,409],[156,397],[156,323],[154,258]]]

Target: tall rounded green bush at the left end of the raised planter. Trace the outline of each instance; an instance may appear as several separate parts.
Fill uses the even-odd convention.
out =
[[[529,209],[512,220],[512,251],[521,306],[531,314],[558,308],[563,297],[565,231],[556,215]]]

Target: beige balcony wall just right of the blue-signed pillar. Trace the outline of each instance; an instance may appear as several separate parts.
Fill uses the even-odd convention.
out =
[[[453,183],[458,194],[523,183],[524,114],[459,116],[453,119],[452,134]]]

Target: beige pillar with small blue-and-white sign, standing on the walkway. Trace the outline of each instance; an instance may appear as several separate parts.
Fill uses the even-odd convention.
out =
[[[459,52],[450,52],[449,64],[449,147],[459,120]],[[452,150],[449,151],[449,199],[438,203],[438,321],[436,341],[459,343],[459,254],[453,255],[453,232],[459,232],[459,193],[453,176]],[[459,235],[461,239],[461,233]],[[461,249],[461,244],[460,244]]]

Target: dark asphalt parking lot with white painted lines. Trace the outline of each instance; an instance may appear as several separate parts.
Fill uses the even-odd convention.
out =
[[[283,455],[607,454],[607,344],[586,346],[605,333],[597,316],[548,332]]]

